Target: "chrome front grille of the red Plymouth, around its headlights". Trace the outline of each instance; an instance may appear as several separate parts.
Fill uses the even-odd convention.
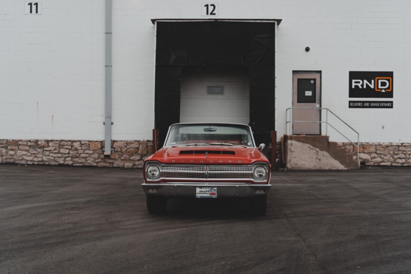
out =
[[[147,162],[159,167],[158,180],[209,180],[209,181],[254,181],[265,182],[268,176],[268,164],[256,163],[253,165],[164,165],[157,162]],[[253,174],[256,166],[263,166],[267,170],[267,176],[256,178]]]

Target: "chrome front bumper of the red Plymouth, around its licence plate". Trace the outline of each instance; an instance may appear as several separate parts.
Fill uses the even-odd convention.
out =
[[[270,184],[257,183],[186,183],[163,182],[143,183],[144,192],[149,195],[169,197],[196,197],[196,187],[217,187],[217,197],[253,197],[267,195]],[[157,189],[157,192],[148,192],[148,189]],[[256,190],[265,190],[256,193]]]

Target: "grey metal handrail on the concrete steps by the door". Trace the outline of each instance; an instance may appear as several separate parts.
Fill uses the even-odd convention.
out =
[[[323,109],[326,110],[326,121],[293,121],[293,111],[290,111],[290,121],[288,121],[288,116],[287,113],[291,109],[320,109],[322,111]],[[328,123],[328,111],[334,115],[336,118],[338,118],[340,121],[342,121],[345,125],[347,125],[351,130],[357,133],[357,144],[351,141],[348,137],[346,137],[342,132],[337,130],[334,126],[332,126],[330,123]],[[343,121],[341,118],[337,116],[334,112],[330,111],[330,109],[325,108],[325,107],[289,107],[288,109],[285,110],[285,117],[286,117],[286,122],[285,122],[285,132],[289,132],[289,135],[292,134],[292,128],[293,128],[293,123],[326,123],[326,135],[328,133],[328,125],[332,127],[335,131],[337,131],[339,134],[341,134],[345,139],[351,142],[354,146],[357,147],[357,161],[360,160],[360,133],[358,133],[357,130],[353,129],[351,125],[347,124],[345,121]],[[320,115],[321,117],[321,115]],[[287,131],[287,125],[290,123],[289,126],[289,131]]]

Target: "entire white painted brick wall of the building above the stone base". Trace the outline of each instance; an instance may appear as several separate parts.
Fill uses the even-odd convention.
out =
[[[113,1],[113,139],[151,139],[150,19],[206,18],[202,2]],[[38,16],[24,15],[23,3],[0,3],[0,139],[103,139],[104,0],[42,1]],[[218,3],[219,18],[283,19],[277,136],[291,106],[292,71],[321,70],[322,106],[356,128],[362,142],[411,142],[410,1]],[[394,71],[394,109],[349,109],[350,70]],[[335,134],[331,139],[344,141]]]

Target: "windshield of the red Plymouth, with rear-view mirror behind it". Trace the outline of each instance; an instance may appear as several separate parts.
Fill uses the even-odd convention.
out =
[[[166,146],[254,146],[249,127],[236,124],[180,124],[171,126]]]

